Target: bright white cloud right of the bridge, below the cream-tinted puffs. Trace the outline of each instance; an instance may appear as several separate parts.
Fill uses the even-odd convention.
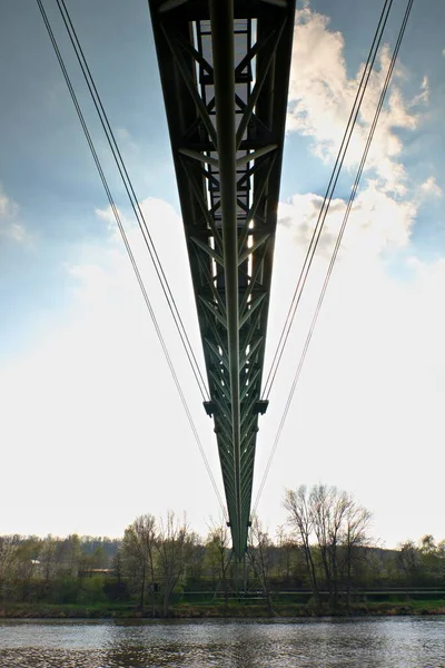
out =
[[[415,208],[403,203],[397,208],[379,194],[373,210],[375,197],[370,184],[359,203],[360,216],[357,212],[350,217],[259,512],[276,523],[283,513],[277,507],[284,487],[332,482],[374,511],[376,533],[389,547],[429,529],[437,537],[444,534],[442,466],[432,462],[443,462],[445,318],[437,304],[445,292],[445,261],[427,264],[413,257],[405,267],[408,278],[389,275],[382,253],[406,244]],[[333,204],[328,234],[344,209],[342,200]],[[276,243],[266,371],[318,207],[316,195],[295,196],[280,207],[286,224],[279,226]],[[326,267],[326,253],[317,254],[261,421],[257,479],[275,439]],[[413,489],[415,494],[407,492]]]

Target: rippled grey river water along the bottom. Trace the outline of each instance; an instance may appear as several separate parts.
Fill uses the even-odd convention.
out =
[[[445,617],[0,622],[1,668],[445,668]]]

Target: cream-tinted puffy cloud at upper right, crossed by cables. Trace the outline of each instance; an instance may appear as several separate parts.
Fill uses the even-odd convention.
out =
[[[332,160],[340,146],[364,68],[362,65],[357,76],[348,78],[344,47],[343,35],[329,30],[328,17],[313,11],[308,2],[297,10],[287,129],[310,136],[315,155],[325,160]],[[347,167],[357,165],[362,157],[389,60],[390,52],[385,46],[362,102],[345,159]],[[426,104],[428,99],[426,77],[421,85],[421,92],[411,101],[404,99],[397,85],[397,80],[403,79],[402,67],[396,68],[367,159],[367,168],[375,170],[380,187],[398,194],[406,191],[406,175],[399,160],[403,145],[395,129],[416,128],[421,115],[413,107]]]

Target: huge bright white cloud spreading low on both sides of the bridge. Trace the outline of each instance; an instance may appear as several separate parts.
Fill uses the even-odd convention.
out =
[[[147,199],[141,206],[200,354],[181,220],[164,202]],[[276,244],[268,357],[319,206],[315,194],[280,205],[285,223]],[[342,199],[333,202],[326,234],[335,234],[344,208]],[[98,216],[107,219],[107,212]],[[396,207],[374,181],[356,202],[259,508],[270,527],[284,520],[286,485],[323,480],[350,490],[369,507],[389,546],[425,531],[443,536],[442,468],[432,468],[431,461],[442,452],[443,440],[445,321],[437,304],[445,292],[445,266],[414,257],[412,281],[403,283],[390,278],[379,261],[383,250],[406,244],[414,216],[415,209],[406,203]],[[139,232],[128,223],[127,232],[219,480],[212,423],[201,409]],[[325,242],[260,422],[256,484],[326,271],[332,242]],[[205,532],[208,514],[217,515],[218,507],[115,233],[110,229],[100,248],[85,248],[68,271],[76,297],[69,317],[36,342],[28,356],[0,370],[2,433],[9,444],[3,465],[14,470],[27,460],[23,504],[16,504],[2,530],[120,534],[137,514],[187,508],[190,523]],[[75,480],[82,480],[76,503],[67,499]],[[0,503],[12,498],[14,485],[13,477],[3,481]]]

